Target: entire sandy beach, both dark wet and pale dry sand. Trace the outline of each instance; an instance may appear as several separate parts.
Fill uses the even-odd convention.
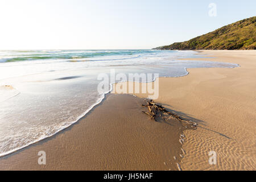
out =
[[[240,67],[191,68],[186,76],[157,78],[155,102],[196,122],[196,130],[152,121],[142,113],[147,94],[111,93],[71,127],[0,158],[0,169],[178,170],[179,164],[182,170],[255,170],[256,52],[198,54],[206,56],[195,60]],[[46,165],[38,164],[39,151],[46,152]],[[216,165],[209,164],[210,151]]]

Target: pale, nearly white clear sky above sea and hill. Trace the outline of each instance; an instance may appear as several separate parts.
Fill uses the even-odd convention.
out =
[[[255,14],[255,0],[0,0],[0,49],[151,49]]]

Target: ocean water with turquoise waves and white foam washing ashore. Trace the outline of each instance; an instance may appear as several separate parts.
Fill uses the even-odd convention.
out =
[[[98,92],[101,73],[180,77],[187,68],[239,66],[178,60],[197,57],[194,51],[149,49],[0,51],[0,156],[55,135],[99,104],[112,89],[110,81]]]

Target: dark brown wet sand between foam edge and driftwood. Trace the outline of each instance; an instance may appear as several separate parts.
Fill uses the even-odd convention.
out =
[[[75,125],[1,158],[0,170],[177,170],[183,124],[155,122],[141,104],[132,95],[108,94]],[[38,164],[39,151],[46,165]]]

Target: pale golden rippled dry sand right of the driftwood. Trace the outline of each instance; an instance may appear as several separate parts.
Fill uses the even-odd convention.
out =
[[[196,60],[236,63],[238,68],[188,69],[189,75],[159,78],[156,102],[199,123],[184,132],[185,170],[256,169],[256,51],[199,51]],[[214,57],[214,58],[210,58]],[[188,60],[188,59],[186,59]],[[193,59],[191,59],[193,60]],[[147,94],[135,94],[147,97]],[[209,152],[217,164],[209,165]]]

